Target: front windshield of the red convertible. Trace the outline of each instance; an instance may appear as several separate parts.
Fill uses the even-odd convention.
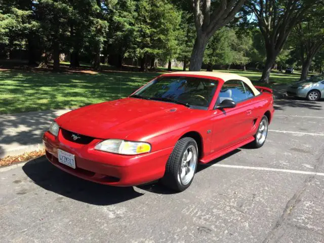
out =
[[[207,109],[214,97],[217,80],[163,76],[156,78],[134,94],[134,97],[149,98],[166,102],[183,103],[192,108]]]

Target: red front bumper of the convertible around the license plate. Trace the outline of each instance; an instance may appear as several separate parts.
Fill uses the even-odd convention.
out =
[[[53,165],[74,176],[113,186],[135,186],[162,178],[173,150],[170,147],[139,155],[120,155],[95,150],[100,141],[77,144],[64,139],[61,130],[57,137],[49,132],[43,136],[46,156]],[[74,154],[75,169],[59,163],[58,148]]]

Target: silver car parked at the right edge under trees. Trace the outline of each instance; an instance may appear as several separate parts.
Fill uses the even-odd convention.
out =
[[[289,96],[306,98],[310,101],[324,98],[324,75],[312,76],[295,83],[288,88],[287,94]]]

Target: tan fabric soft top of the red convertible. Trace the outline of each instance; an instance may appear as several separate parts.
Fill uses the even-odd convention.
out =
[[[241,80],[245,84],[247,84],[251,90],[253,91],[254,95],[259,95],[260,92],[254,87],[254,85],[251,83],[251,80],[247,77],[243,77],[240,75],[237,75],[235,73],[228,73],[228,72],[206,72],[206,71],[200,71],[200,72],[172,72],[170,74],[193,74],[193,75],[201,75],[201,76],[210,76],[210,77],[218,77],[224,80],[224,82],[228,80]]]

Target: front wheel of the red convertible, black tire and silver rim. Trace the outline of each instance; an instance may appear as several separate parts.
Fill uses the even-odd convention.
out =
[[[190,186],[194,178],[197,163],[198,148],[196,141],[189,137],[180,139],[167,161],[166,172],[161,182],[173,190],[184,191]]]

